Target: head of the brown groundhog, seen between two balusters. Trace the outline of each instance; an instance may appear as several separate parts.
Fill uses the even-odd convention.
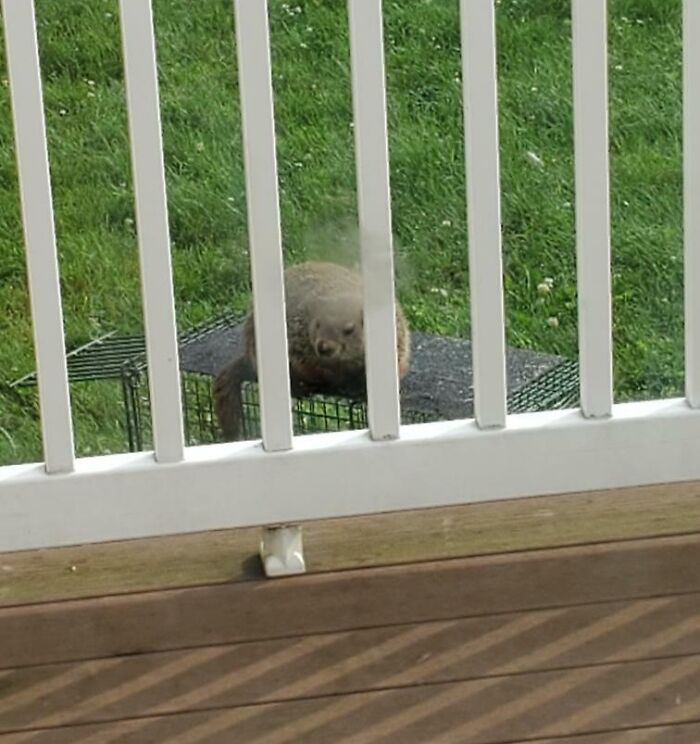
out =
[[[310,313],[309,341],[316,356],[329,363],[363,364],[362,299],[339,295],[318,299]]]

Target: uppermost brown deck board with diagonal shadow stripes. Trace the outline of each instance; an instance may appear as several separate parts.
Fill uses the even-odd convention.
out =
[[[700,595],[210,646],[7,670],[0,732],[694,654]]]

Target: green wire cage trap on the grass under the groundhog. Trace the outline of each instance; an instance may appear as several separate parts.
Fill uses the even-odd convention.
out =
[[[239,353],[242,320],[224,315],[179,337],[185,436],[188,445],[221,441],[212,400],[214,375]],[[135,452],[152,447],[148,364],[142,335],[109,333],[71,351],[68,378],[75,384],[121,387],[125,445]],[[507,350],[508,411],[525,413],[578,404],[578,365],[559,356],[524,349]],[[471,344],[459,338],[414,332],[411,369],[401,384],[405,424],[469,418],[473,415]],[[36,385],[36,373],[12,383]],[[260,436],[255,383],[243,384],[243,435]],[[293,401],[296,434],[362,429],[363,401],[315,395]]]

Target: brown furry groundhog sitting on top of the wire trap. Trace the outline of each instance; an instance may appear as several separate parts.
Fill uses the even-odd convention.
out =
[[[364,399],[362,278],[334,263],[309,261],[284,274],[291,392]],[[408,372],[410,333],[396,303],[399,379]],[[241,436],[241,383],[256,380],[253,311],[243,327],[243,353],[217,375],[214,407],[224,439]]]

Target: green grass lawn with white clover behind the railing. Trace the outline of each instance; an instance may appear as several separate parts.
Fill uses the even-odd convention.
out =
[[[142,326],[116,0],[37,0],[67,342]],[[249,297],[231,0],[155,0],[181,328]],[[385,0],[400,298],[415,328],[469,332],[456,0]],[[682,389],[680,0],[611,0],[616,396]],[[271,0],[285,255],[352,243],[341,0]],[[575,357],[568,0],[498,3],[508,342]],[[0,54],[4,59],[4,53]],[[6,77],[0,68],[0,77]],[[11,119],[0,88],[0,463],[41,457]],[[544,163],[528,158],[535,153]],[[538,294],[545,277],[552,291]],[[556,318],[557,323],[550,319]],[[556,325],[556,327],[553,327]],[[81,452],[123,449],[117,393],[76,387]]]

